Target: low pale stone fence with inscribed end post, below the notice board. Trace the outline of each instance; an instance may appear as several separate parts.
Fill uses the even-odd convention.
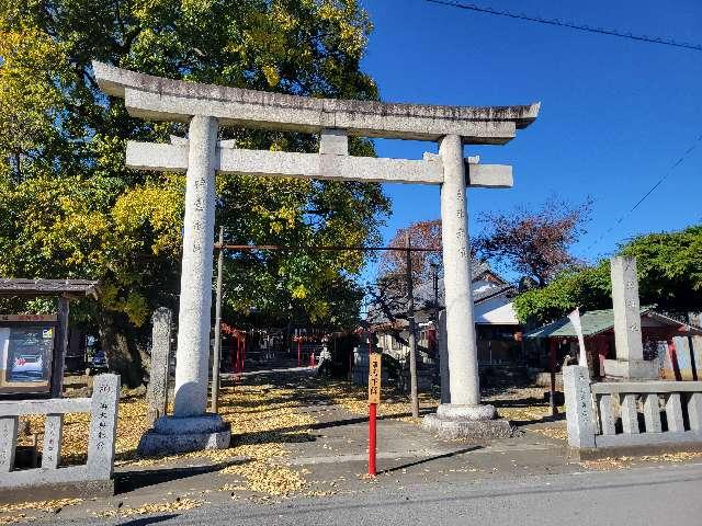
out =
[[[118,400],[120,376],[100,375],[94,379],[92,398],[1,401],[0,490],[111,481]],[[88,461],[82,466],[59,467],[66,413],[91,413]],[[46,415],[42,466],[16,470],[19,418],[31,414]]]

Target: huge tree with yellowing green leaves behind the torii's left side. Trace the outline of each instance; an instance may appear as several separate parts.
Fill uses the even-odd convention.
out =
[[[125,142],[185,128],[131,118],[100,92],[91,60],[373,100],[360,70],[370,21],[355,0],[0,0],[0,274],[100,279],[100,302],[84,315],[112,366],[138,384],[145,322],[155,307],[177,306],[184,178],[126,169]],[[318,140],[234,128],[222,138],[287,151]],[[350,147],[374,155],[364,139]],[[238,243],[373,243],[389,211],[377,184],[220,176],[217,192],[217,225]],[[349,323],[362,265],[355,252],[228,254],[227,307]]]

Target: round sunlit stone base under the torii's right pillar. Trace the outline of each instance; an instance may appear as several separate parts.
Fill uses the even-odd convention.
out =
[[[423,418],[421,426],[444,439],[482,441],[511,437],[514,434],[514,427],[508,420],[496,419],[496,414],[494,405],[442,403],[435,413]]]

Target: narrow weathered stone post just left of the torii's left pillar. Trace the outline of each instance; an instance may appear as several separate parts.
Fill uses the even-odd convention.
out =
[[[154,424],[166,414],[173,312],[159,307],[151,316],[151,373],[148,389],[148,420]]]

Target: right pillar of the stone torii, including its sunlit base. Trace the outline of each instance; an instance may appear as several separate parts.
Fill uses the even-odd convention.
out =
[[[441,241],[451,400],[440,404],[435,414],[424,416],[422,426],[445,438],[511,436],[510,423],[496,419],[494,405],[480,403],[462,138],[443,137],[439,157],[443,164]]]

